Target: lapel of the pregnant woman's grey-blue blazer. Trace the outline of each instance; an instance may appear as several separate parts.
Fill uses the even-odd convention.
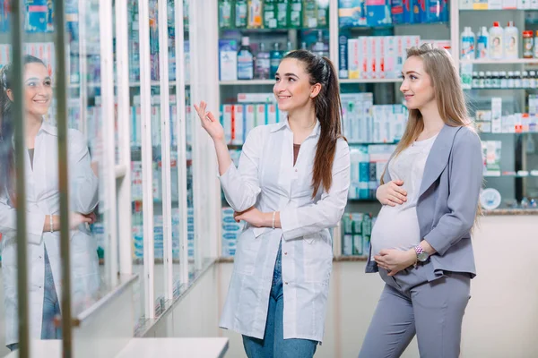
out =
[[[428,159],[426,159],[419,198],[438,179],[439,175],[441,175],[447,166],[454,137],[461,128],[459,126],[452,127],[445,124],[441,132],[439,132],[437,139],[433,142],[433,146],[430,149]]]

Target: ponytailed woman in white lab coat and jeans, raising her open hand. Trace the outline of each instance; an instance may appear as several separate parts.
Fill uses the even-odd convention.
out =
[[[213,138],[222,189],[247,222],[221,327],[243,335],[247,356],[312,357],[324,334],[332,237],[347,202],[350,152],[336,72],[308,51],[286,55],[273,88],[288,119],[257,126],[233,166],[221,124],[195,106]]]

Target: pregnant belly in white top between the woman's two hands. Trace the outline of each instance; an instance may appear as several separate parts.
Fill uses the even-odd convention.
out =
[[[384,206],[372,228],[372,256],[383,249],[409,250],[421,242],[416,207]]]

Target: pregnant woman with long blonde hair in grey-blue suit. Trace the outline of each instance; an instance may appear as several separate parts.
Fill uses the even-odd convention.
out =
[[[377,189],[367,266],[386,285],[359,356],[399,357],[416,334],[421,357],[456,358],[475,276],[481,141],[446,50],[408,49],[402,75],[409,119]]]

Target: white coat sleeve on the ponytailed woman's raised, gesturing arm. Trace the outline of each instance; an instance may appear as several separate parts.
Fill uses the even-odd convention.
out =
[[[232,163],[219,177],[226,200],[237,212],[252,208],[261,192],[258,168],[263,149],[263,130],[264,126],[259,126],[248,133],[239,158],[239,168]]]

